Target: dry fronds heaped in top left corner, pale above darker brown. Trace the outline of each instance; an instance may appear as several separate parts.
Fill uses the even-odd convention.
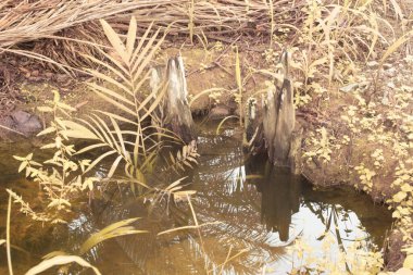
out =
[[[7,51],[34,58],[52,68],[89,66],[80,53],[98,55],[91,42],[104,37],[97,20],[118,13],[160,4],[163,1],[65,1],[9,0],[0,4],[0,52]],[[28,51],[12,50],[22,42],[36,41]],[[27,47],[26,47],[27,48]],[[54,61],[54,62],[51,62]],[[67,73],[67,71],[65,71]]]

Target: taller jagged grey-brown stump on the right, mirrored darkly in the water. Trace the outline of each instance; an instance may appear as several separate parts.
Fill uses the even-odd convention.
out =
[[[275,166],[288,166],[300,174],[301,129],[296,129],[292,83],[289,78],[289,53],[279,59],[278,78],[262,99],[260,114],[256,102],[247,102],[246,139],[253,153],[266,150],[268,161]],[[255,152],[254,152],[255,151]]]

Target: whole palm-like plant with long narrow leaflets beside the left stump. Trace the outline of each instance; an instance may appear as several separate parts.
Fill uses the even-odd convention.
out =
[[[98,153],[85,173],[107,158],[115,157],[107,175],[109,179],[123,166],[132,182],[137,180],[146,186],[145,175],[154,170],[154,162],[163,145],[161,138],[182,143],[182,139],[174,132],[163,128],[164,117],[159,115],[168,84],[164,82],[150,91],[141,90],[151,75],[147,67],[165,35],[160,38],[160,30],[153,32],[150,25],[136,43],[137,22],[134,17],[130,20],[126,39],[116,34],[105,21],[100,22],[112,49],[97,49],[105,60],[86,55],[99,68],[86,68],[96,78],[88,86],[112,107],[110,110],[114,108],[121,112],[97,110],[86,118],[67,123],[65,134],[93,142],[77,151],[77,154]],[[143,121],[149,120],[152,124],[143,124]],[[171,158],[168,168],[178,172],[192,167],[197,164],[197,157],[195,143],[185,146]]]

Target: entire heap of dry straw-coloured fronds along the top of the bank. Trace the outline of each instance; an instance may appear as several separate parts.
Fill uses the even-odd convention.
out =
[[[63,71],[64,67],[89,66],[79,53],[98,55],[90,47],[92,42],[104,40],[97,20],[104,18],[117,33],[125,34],[132,15],[137,18],[140,35],[153,24],[154,29],[170,27],[171,36],[202,35],[224,41],[240,34],[267,35],[275,25],[286,27],[302,22],[304,0],[274,0],[274,7],[270,3],[261,0],[130,0],[122,3],[116,0],[5,0],[0,3],[0,53],[9,51],[32,57]],[[35,43],[26,43],[23,50],[15,49],[28,41]]]

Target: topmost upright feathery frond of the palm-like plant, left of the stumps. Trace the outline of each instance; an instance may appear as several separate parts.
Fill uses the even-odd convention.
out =
[[[134,17],[132,17],[129,23],[126,45],[104,20],[100,22],[113,48],[113,52],[108,53],[98,49],[107,58],[108,62],[100,61],[93,57],[87,58],[111,73],[112,76],[88,68],[88,73],[102,82],[102,84],[91,83],[89,87],[116,109],[126,112],[134,118],[145,120],[150,116],[163,97],[163,93],[146,96],[140,92],[140,89],[147,82],[150,73],[145,71],[163,42],[164,36],[159,38],[160,30],[158,29],[149,37],[149,34],[152,32],[152,25],[150,25],[135,48],[137,23]],[[108,84],[116,87],[116,90],[107,87],[105,85]],[[152,97],[155,99],[154,101],[151,100]],[[141,111],[143,111],[143,114],[140,114]]]

